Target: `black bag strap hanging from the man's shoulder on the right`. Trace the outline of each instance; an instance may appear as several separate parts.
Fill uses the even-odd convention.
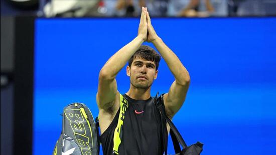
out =
[[[172,137],[172,140],[173,140],[175,152],[179,153],[179,152],[181,152],[179,143],[181,144],[181,146],[183,148],[187,147],[187,144],[184,141],[184,139],[182,138],[182,136],[179,133],[179,131],[177,130],[177,128],[175,127],[174,123],[166,115],[163,96],[164,96],[164,94],[162,94],[161,97],[158,97],[158,93],[157,93],[157,95],[155,97],[155,100],[154,100],[155,105],[157,106],[157,108],[161,112],[161,115],[166,119],[167,123],[170,125],[170,127],[171,127],[170,133],[171,133],[171,137]],[[165,154],[167,154],[167,152],[165,152]]]

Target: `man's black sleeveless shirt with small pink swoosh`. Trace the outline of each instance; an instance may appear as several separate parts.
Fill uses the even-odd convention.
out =
[[[123,97],[128,101],[128,108],[123,121],[123,135],[118,149],[119,155],[163,154],[168,137],[166,120],[161,117],[160,111],[154,105],[154,98],[135,100],[126,94],[123,94]],[[119,111],[120,109],[108,128],[100,135],[104,155],[113,152],[113,135],[117,126]]]

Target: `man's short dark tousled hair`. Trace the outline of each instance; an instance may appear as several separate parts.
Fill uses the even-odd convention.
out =
[[[128,60],[128,66],[131,67],[133,60],[137,58],[154,61],[156,66],[155,70],[158,70],[161,56],[150,46],[141,45],[140,48]]]

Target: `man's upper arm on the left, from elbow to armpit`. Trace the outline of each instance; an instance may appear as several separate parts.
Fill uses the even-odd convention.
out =
[[[107,109],[114,104],[117,94],[116,80],[106,80],[99,78],[97,104],[101,109]]]

